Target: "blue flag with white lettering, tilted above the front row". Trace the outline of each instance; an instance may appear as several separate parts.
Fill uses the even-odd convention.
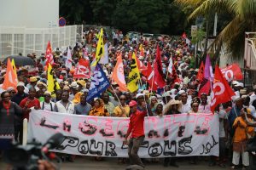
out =
[[[90,82],[90,89],[86,98],[87,101],[100,96],[102,92],[108,88],[108,86],[110,86],[108,77],[106,77],[105,72],[102,71],[102,67],[100,65],[96,65]]]

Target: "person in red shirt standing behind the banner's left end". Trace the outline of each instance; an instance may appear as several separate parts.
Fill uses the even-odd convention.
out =
[[[40,109],[40,101],[35,98],[36,96],[36,89],[35,88],[29,88],[28,97],[25,99],[22,99],[20,102],[20,107],[24,108],[23,113],[23,119],[29,119],[29,113],[31,111],[31,108],[34,107],[35,109]]]

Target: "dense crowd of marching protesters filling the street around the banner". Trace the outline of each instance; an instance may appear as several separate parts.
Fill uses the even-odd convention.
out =
[[[67,49],[56,48],[53,52],[54,76],[60,88],[55,91],[55,97],[47,91],[47,70],[45,69],[45,55],[28,54],[35,62],[33,69],[17,65],[19,82],[16,88],[1,90],[0,102],[0,135],[13,135],[15,140],[22,141],[22,121],[29,118],[33,109],[44,111],[57,111],[67,114],[84,116],[116,116],[130,117],[137,111],[148,112],[148,116],[165,116],[174,114],[204,114],[211,113],[209,94],[199,94],[201,82],[196,79],[198,69],[195,69],[193,48],[182,37],[163,37],[157,40],[125,37],[121,31],[113,33],[113,42],[108,40],[109,35],[104,33],[104,41],[108,43],[109,63],[102,65],[113,88],[108,88],[101,96],[87,100],[90,89],[90,78],[73,78],[73,70],[79,59],[92,60],[96,54],[97,29],[85,32],[85,41],[77,42],[72,48],[73,69],[65,66]],[[166,81],[164,88],[153,90],[142,74],[139,89],[135,93],[121,92],[117,82],[112,81],[112,73],[117,56],[121,54],[124,64],[125,80],[131,71],[131,56],[137,53],[143,65],[153,65],[156,47],[161,49],[163,74]],[[141,49],[143,48],[143,50]],[[168,73],[168,65],[172,58],[172,74]],[[1,64],[0,84],[5,77],[6,65]],[[256,118],[256,86],[244,87],[242,82],[230,82],[236,96],[227,103],[218,105],[214,113],[219,116],[219,157],[211,156],[209,166],[226,167],[232,163],[232,168],[239,165],[249,166],[248,152],[245,150],[249,136],[252,137],[254,128],[247,126],[245,113],[250,120]],[[0,85],[1,88],[1,85]],[[136,106],[136,108],[134,107]],[[134,126],[134,125],[133,125]],[[143,136],[143,134],[142,134]],[[128,136],[127,136],[128,137]],[[139,136],[140,137],[140,136]],[[141,138],[140,140],[143,140]],[[127,142],[127,141],[126,141]],[[137,142],[137,141],[133,141]],[[130,150],[131,151],[131,150]],[[131,155],[131,154],[130,154]],[[134,155],[133,155],[134,156]],[[240,164],[240,156],[242,162]],[[101,158],[96,158],[101,160]],[[165,158],[164,166],[175,166],[179,158]],[[72,156],[68,156],[73,161]],[[189,162],[196,164],[198,158],[190,157]],[[125,159],[119,159],[125,162]],[[132,161],[142,164],[134,158]],[[155,160],[154,160],[155,161]]]

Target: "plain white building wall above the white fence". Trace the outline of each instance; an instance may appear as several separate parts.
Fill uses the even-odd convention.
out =
[[[59,0],[0,0],[0,26],[58,26]]]

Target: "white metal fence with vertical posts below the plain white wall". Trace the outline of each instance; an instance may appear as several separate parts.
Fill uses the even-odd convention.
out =
[[[81,42],[83,26],[55,28],[0,27],[0,58],[16,54],[40,55],[45,52],[48,41],[53,49],[67,48]]]

